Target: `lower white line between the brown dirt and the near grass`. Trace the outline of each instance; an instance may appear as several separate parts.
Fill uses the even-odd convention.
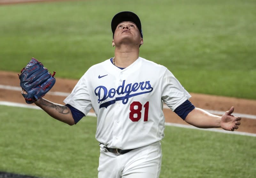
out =
[[[14,103],[14,102],[9,102],[9,101],[0,101],[0,105],[31,108],[31,109],[41,109],[40,107],[38,107],[34,104],[29,105],[29,104]],[[96,114],[91,113],[91,112],[89,112],[87,115],[91,116],[91,117],[96,117]],[[226,134],[237,134],[237,135],[246,135],[246,136],[256,137],[256,134],[247,133],[247,132],[239,132],[239,131],[231,132],[231,131],[215,129],[215,128],[201,129],[201,128],[197,128],[197,127],[190,126],[190,125],[175,124],[175,123],[169,123],[169,122],[166,122],[165,125],[166,126],[174,126],[174,127],[182,127],[182,128],[190,128],[190,129],[198,129],[198,130],[204,130],[204,131],[221,132],[221,133],[226,133]]]

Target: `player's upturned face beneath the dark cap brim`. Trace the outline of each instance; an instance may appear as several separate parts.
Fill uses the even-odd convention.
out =
[[[122,43],[134,43],[138,46],[143,44],[140,31],[133,22],[121,22],[117,25],[114,33],[113,46]]]

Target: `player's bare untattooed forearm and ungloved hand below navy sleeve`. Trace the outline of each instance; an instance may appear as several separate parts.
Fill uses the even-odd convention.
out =
[[[238,129],[241,117],[231,115],[233,112],[233,106],[222,116],[213,115],[203,109],[195,108],[187,115],[185,121],[199,128],[221,127],[224,130],[234,131]]]

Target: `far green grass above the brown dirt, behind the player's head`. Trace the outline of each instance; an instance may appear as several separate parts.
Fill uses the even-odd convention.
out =
[[[111,19],[130,10],[142,21],[140,56],[165,65],[189,92],[256,99],[255,8],[255,0],[4,5],[0,70],[17,72],[35,57],[56,77],[79,79],[114,56]]]

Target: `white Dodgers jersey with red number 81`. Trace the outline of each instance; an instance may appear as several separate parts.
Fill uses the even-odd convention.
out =
[[[163,102],[174,111],[190,97],[166,67],[139,57],[123,70],[110,59],[93,65],[64,102],[85,115],[93,108],[106,147],[133,149],[164,137]]]

